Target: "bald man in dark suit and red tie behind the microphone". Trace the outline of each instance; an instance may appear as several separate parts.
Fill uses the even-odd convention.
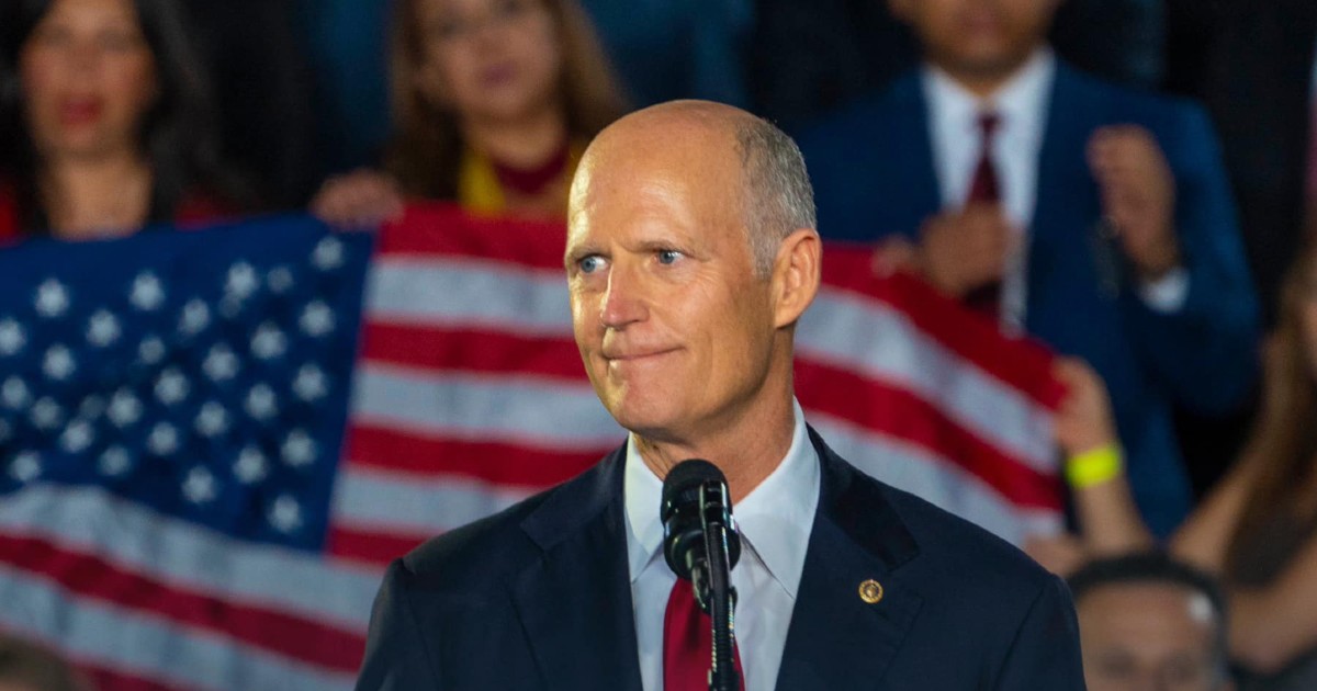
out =
[[[693,457],[736,504],[745,688],[1083,688],[1055,576],[806,426],[792,349],[819,261],[799,150],[766,121],[678,101],[605,130],[565,266],[586,371],[631,436],[394,562],[358,688],[707,688],[709,619],[658,520],[661,479]]]

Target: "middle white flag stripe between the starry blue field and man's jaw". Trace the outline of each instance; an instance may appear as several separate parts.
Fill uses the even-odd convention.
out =
[[[593,453],[626,436],[585,382],[361,362],[353,390],[353,422],[429,437]]]

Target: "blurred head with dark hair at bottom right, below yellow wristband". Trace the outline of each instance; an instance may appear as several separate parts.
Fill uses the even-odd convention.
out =
[[[1226,691],[1225,599],[1163,554],[1089,563],[1069,579],[1089,691]]]

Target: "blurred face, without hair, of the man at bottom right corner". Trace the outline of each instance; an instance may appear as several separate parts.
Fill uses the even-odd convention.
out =
[[[1089,691],[1225,691],[1206,596],[1166,583],[1102,586],[1079,601]]]

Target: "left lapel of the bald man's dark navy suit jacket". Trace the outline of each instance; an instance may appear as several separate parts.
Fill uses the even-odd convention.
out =
[[[522,524],[544,554],[515,579],[512,596],[544,688],[640,691],[623,450]]]

